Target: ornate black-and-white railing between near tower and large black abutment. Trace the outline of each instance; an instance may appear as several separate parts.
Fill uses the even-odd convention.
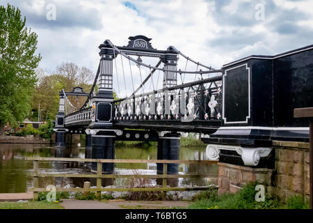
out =
[[[219,120],[222,116],[222,77],[201,79],[129,98],[113,104],[113,120]]]

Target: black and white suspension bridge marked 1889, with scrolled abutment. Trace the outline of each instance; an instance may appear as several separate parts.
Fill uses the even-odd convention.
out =
[[[158,141],[158,159],[177,160],[180,136],[200,132],[211,159],[271,168],[273,140],[308,141],[308,125],[294,119],[293,110],[313,107],[312,45],[214,69],[175,47],[154,49],[150,40],[134,36],[124,47],[110,40],[99,45],[90,93],[79,87],[60,93],[56,146],[65,146],[65,134],[86,133],[92,157],[112,159],[116,140]],[[114,100],[113,77],[115,91],[125,98]],[[70,95],[86,102],[74,107]],[[103,168],[104,173],[114,169],[113,164]],[[162,168],[158,164],[158,173]],[[168,174],[177,171],[177,164],[168,164]]]

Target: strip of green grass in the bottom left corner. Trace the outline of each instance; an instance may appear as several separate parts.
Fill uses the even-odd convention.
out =
[[[58,201],[0,202],[0,209],[64,209]]]

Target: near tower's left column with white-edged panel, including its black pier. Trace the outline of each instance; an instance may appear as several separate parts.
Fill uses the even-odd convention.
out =
[[[98,92],[90,98],[92,103],[91,123],[86,129],[91,138],[92,158],[93,159],[114,159],[115,158],[115,137],[112,130],[112,103],[113,103],[113,59],[115,53],[107,41],[99,45]],[[90,139],[89,138],[89,139]],[[87,141],[86,141],[87,142]],[[92,170],[97,170],[97,164],[92,164]],[[114,171],[113,163],[102,164],[104,174],[112,174]]]

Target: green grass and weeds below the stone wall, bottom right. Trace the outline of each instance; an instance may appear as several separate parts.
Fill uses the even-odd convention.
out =
[[[236,194],[223,194],[218,196],[218,191],[211,189],[202,192],[195,197],[195,202],[191,203],[190,209],[307,209],[308,201],[303,197],[289,197],[286,202],[280,201],[278,197],[266,197],[265,201],[255,201],[255,185],[248,183]]]

